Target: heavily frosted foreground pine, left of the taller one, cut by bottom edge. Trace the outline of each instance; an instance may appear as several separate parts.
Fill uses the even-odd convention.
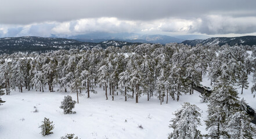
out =
[[[175,118],[171,120],[170,128],[174,129],[168,138],[203,138],[197,129],[200,123],[200,108],[190,103],[182,104],[182,108],[175,111]]]

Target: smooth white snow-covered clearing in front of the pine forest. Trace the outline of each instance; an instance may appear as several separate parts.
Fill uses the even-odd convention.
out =
[[[249,81],[251,79],[250,77]],[[208,85],[209,81],[204,78],[202,83]],[[103,90],[98,88],[97,91],[98,94],[91,94],[91,98],[80,96],[80,103],[75,104],[74,108],[77,114],[68,115],[64,115],[63,109],[59,108],[60,102],[67,94],[75,100],[74,93],[24,91],[2,96],[6,103],[0,106],[0,138],[56,139],[67,133],[74,133],[81,139],[167,138],[172,131],[168,127],[169,121],[174,118],[172,113],[181,108],[184,102],[196,104],[202,110],[202,126],[199,129],[202,134],[207,133],[203,121],[207,116],[207,103],[200,103],[199,93],[196,91],[192,95],[181,96],[179,102],[171,100],[170,97],[168,104],[164,102],[163,105],[160,105],[156,97],[146,101],[146,96],[139,98],[139,104],[135,104],[135,99],[131,98],[125,102],[123,96],[115,96],[114,101],[105,100]],[[250,88],[239,96],[256,108],[256,98],[253,98]],[[38,112],[33,112],[34,107],[37,107]],[[53,121],[55,129],[53,134],[42,137],[38,127],[45,117]],[[139,129],[139,125],[143,129]]]

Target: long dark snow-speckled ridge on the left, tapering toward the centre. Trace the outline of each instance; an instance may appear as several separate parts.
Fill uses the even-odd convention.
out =
[[[15,53],[15,52],[49,52],[60,49],[92,49],[93,47],[102,47],[105,49],[109,46],[122,47],[124,45],[134,45],[141,43],[131,43],[122,41],[103,41],[99,43],[94,42],[80,42],[74,39],[66,38],[43,38],[39,36],[21,36],[0,38],[0,54]]]

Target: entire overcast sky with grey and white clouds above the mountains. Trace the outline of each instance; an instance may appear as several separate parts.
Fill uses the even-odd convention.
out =
[[[255,0],[2,0],[0,37],[256,35]]]

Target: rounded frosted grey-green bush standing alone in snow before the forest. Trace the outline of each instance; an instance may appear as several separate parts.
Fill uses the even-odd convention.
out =
[[[72,109],[75,108],[75,102],[72,100],[71,96],[64,96],[64,99],[62,101],[62,105],[60,105],[60,108],[63,109],[64,114],[72,114]]]

